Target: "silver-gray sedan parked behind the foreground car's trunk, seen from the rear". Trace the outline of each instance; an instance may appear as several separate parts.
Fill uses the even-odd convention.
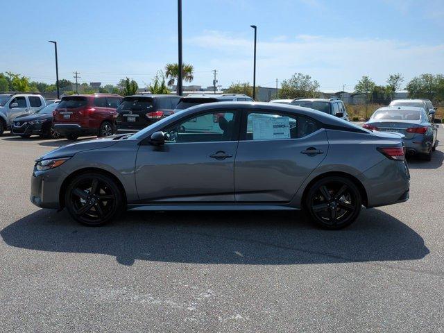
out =
[[[404,135],[404,145],[409,155],[432,159],[438,129],[423,108],[413,106],[389,106],[373,113],[364,128]]]

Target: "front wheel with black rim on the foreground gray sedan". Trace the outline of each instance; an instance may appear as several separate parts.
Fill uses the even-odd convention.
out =
[[[117,183],[102,173],[76,176],[65,191],[65,206],[83,225],[104,225],[123,210],[123,195]]]

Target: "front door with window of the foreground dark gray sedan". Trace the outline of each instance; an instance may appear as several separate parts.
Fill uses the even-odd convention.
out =
[[[163,128],[163,146],[140,146],[135,165],[142,203],[233,203],[238,115],[205,112]]]

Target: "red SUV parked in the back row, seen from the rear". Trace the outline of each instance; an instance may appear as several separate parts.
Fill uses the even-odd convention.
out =
[[[122,97],[116,94],[63,97],[53,111],[54,129],[69,140],[85,135],[113,135],[116,130],[116,109],[121,100]]]

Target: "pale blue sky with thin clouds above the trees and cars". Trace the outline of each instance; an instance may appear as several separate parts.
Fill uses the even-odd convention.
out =
[[[368,75],[384,84],[400,72],[407,81],[444,73],[442,0],[183,0],[184,61],[192,84],[253,83],[257,30],[257,85],[275,86],[295,72],[323,90],[352,89]],[[10,8],[8,8],[10,7]],[[81,82],[149,83],[177,62],[177,2],[16,1],[3,15],[0,71],[52,82],[58,41],[60,78],[79,71]],[[3,11],[5,12],[5,11]]]

